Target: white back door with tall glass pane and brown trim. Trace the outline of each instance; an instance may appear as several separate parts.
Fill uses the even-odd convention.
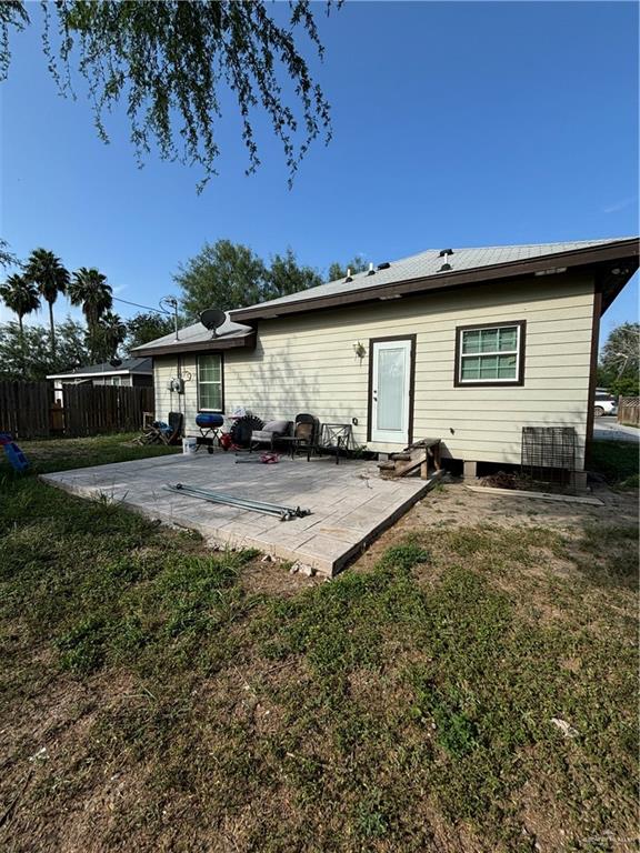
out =
[[[373,341],[371,441],[409,444],[411,405],[410,339]]]

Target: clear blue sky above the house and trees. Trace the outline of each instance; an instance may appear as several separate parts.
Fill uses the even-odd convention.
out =
[[[150,305],[177,292],[180,262],[219,238],[264,258],[290,245],[323,270],[354,253],[380,262],[442,245],[638,233],[634,3],[323,10],[318,78],[333,140],[311,149],[292,190],[260,116],[263,165],[244,177],[231,111],[219,131],[221,174],[201,195],[197,169],[152,157],[139,170],[123,114],[110,118],[104,145],[89,103],[58,97],[39,27],[14,37],[0,84],[0,233],[20,257],[43,245],[70,269],[96,265],[116,295]],[[637,307],[634,277],[603,333],[634,320]],[[57,313],[68,310],[61,301]]]

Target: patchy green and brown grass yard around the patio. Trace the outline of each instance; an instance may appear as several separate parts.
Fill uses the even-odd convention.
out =
[[[122,441],[24,450],[158,452]],[[0,849],[636,849],[637,446],[608,444],[602,508],[441,486],[331,582],[0,466]]]

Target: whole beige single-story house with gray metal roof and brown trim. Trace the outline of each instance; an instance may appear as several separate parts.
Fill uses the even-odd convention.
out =
[[[134,354],[153,357],[157,417],[180,410],[188,431],[200,410],[310,412],[380,452],[440,438],[472,473],[519,463],[523,426],[573,426],[580,470],[600,317],[638,255],[634,238],[432,250]]]

